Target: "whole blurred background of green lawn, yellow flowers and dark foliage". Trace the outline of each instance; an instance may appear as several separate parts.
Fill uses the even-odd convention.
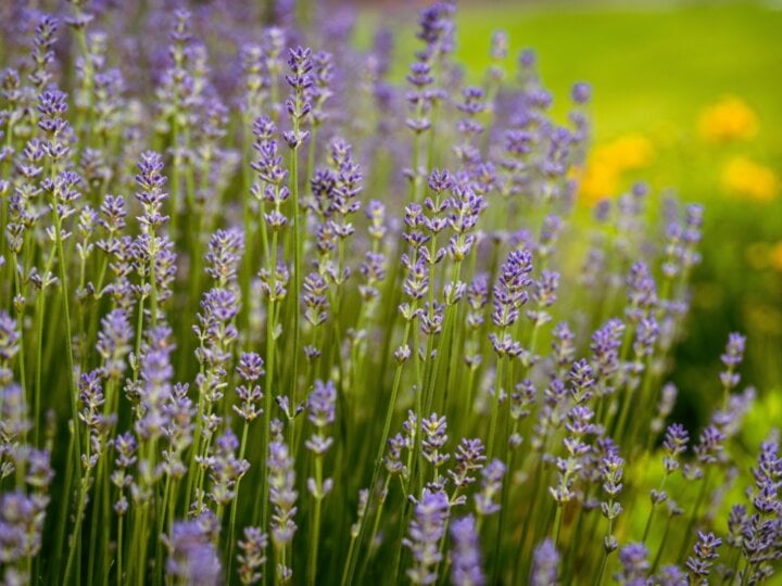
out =
[[[366,17],[392,25],[383,8]],[[463,1],[457,26],[457,60],[475,81],[494,30],[508,34],[509,60],[533,49],[563,120],[572,82],[592,85],[583,205],[638,179],[655,198],[673,189],[706,205],[704,263],[673,374],[680,416],[708,417],[699,399],[718,392],[724,341],[742,331],[744,381],[758,387],[766,417],[782,421],[782,1]],[[374,28],[358,27],[361,43]],[[408,31],[395,52],[401,77],[416,42],[409,27],[396,30]]]

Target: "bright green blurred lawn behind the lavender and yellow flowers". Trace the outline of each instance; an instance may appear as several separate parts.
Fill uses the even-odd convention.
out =
[[[627,2],[629,3],[629,2]],[[782,152],[782,5],[737,2],[475,2],[458,11],[458,59],[478,77],[487,39],[508,33],[512,55],[538,52],[563,103],[572,81],[594,87],[596,138],[690,130],[727,93],[759,114],[758,142]]]

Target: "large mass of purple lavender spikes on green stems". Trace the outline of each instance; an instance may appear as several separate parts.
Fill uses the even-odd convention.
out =
[[[588,217],[586,84],[497,33],[467,85],[450,0],[402,82],[351,15],[169,4],[0,20],[3,584],[774,578],[744,336],[672,421],[703,208]]]

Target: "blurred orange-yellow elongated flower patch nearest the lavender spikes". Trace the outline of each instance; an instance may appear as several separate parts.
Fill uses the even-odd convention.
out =
[[[581,178],[581,194],[589,202],[616,195],[622,174],[647,166],[654,155],[652,141],[639,133],[596,146]]]

